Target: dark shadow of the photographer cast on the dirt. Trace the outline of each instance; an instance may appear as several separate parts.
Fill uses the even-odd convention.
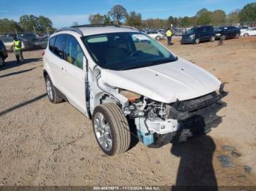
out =
[[[172,190],[179,190],[181,186],[211,186],[210,190],[217,190],[217,179],[212,164],[215,148],[214,140],[210,136],[200,136],[188,142],[173,144],[170,152],[181,157],[181,160],[176,186]]]

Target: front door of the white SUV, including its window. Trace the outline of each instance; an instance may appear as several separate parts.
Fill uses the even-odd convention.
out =
[[[86,114],[86,58],[77,39],[67,34],[64,45],[64,79],[69,103]]]

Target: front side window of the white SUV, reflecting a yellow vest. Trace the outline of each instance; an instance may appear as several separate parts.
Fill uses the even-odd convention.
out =
[[[74,66],[83,69],[83,50],[74,36],[67,35],[64,47],[64,59]]]

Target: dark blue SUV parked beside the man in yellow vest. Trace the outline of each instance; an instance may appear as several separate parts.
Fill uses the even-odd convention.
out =
[[[199,44],[200,42],[214,42],[215,33],[213,26],[199,26],[190,28],[182,35],[181,44]]]

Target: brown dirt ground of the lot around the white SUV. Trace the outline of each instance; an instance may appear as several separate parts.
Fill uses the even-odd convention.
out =
[[[10,53],[0,69],[0,185],[256,185],[256,37],[221,47],[174,39],[170,50],[227,82],[223,122],[184,144],[150,149],[138,143],[116,157],[102,153],[83,114],[67,103],[50,104],[42,50],[24,52],[21,66]],[[235,166],[222,167],[219,155]]]

